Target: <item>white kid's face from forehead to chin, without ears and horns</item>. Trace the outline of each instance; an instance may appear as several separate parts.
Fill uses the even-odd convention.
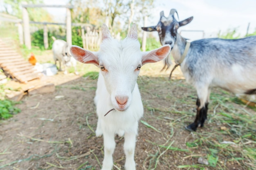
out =
[[[111,41],[113,41],[111,44],[115,43],[115,40],[112,39]],[[102,55],[99,55],[99,68],[111,96],[112,105],[119,111],[126,110],[130,106],[132,91],[142,66],[141,55],[138,55],[141,53],[139,44],[135,42],[138,45],[137,50],[129,48],[130,46],[122,48],[125,41],[121,41],[120,44],[117,43],[118,48],[106,51],[101,51],[101,48]],[[131,43],[134,43],[134,40]],[[113,53],[113,50],[117,53]]]

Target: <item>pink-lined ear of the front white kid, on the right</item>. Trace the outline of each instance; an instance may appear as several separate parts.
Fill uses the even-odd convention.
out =
[[[155,49],[148,52],[143,52],[142,55],[142,65],[147,63],[159,62],[163,60],[171,51],[171,46],[166,44],[159,49]]]

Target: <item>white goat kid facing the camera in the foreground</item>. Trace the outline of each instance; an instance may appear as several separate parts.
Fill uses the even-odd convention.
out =
[[[97,52],[87,51],[79,46],[72,46],[70,51],[79,62],[94,64],[100,68],[94,102],[98,115],[96,136],[103,134],[104,139],[102,170],[111,170],[113,167],[115,134],[124,134],[125,169],[135,170],[138,121],[143,115],[136,82],[139,70],[146,63],[164,59],[171,48],[165,45],[153,51],[141,52],[136,24],[132,25],[127,37],[121,41],[113,39],[108,27],[103,24],[102,40]]]

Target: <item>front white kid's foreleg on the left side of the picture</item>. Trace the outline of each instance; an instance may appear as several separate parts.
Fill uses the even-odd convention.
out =
[[[111,170],[113,167],[113,153],[115,150],[115,133],[103,132],[104,139],[104,159],[101,170]]]

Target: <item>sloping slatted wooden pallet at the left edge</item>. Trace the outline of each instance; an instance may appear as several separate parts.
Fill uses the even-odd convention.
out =
[[[0,67],[21,83],[39,79],[42,74],[26,61],[15,49],[0,40]]]

